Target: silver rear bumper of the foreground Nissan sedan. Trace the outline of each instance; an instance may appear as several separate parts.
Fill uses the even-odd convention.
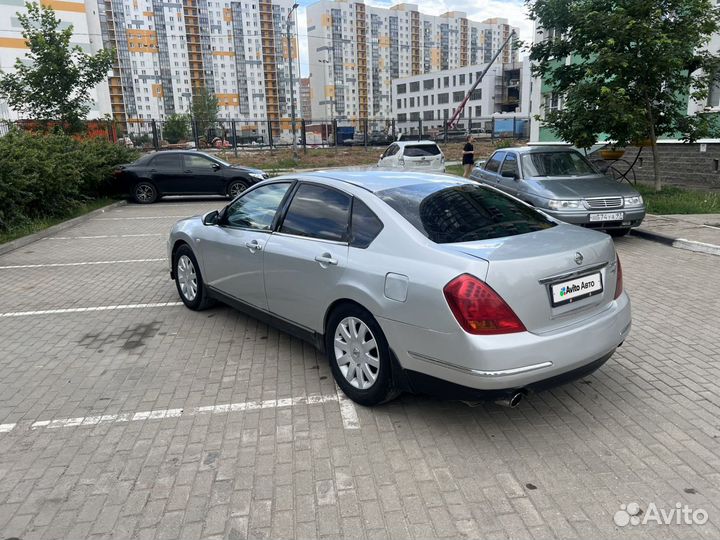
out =
[[[546,334],[474,336],[379,322],[403,370],[497,394],[607,360],[630,333],[630,299],[622,294],[608,309]]]

